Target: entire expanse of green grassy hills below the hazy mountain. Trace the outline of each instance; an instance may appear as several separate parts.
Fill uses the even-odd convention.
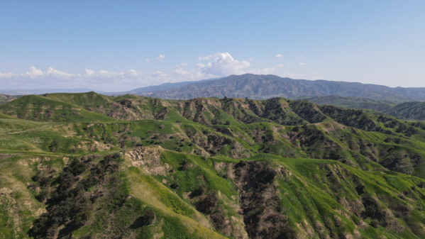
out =
[[[282,98],[0,111],[4,238],[425,237],[425,123]]]

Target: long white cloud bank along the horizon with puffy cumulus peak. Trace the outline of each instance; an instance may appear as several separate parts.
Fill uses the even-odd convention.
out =
[[[164,59],[165,55],[160,55],[158,59]],[[199,79],[209,79],[215,77],[226,77],[231,74],[280,74],[285,64],[275,65],[275,67],[265,67],[264,69],[253,69],[250,62],[236,60],[228,52],[216,52],[206,57],[199,57],[199,62],[189,68],[186,62],[176,65],[170,72],[153,70],[152,72],[139,72],[128,70],[125,72],[113,72],[106,70],[92,70],[85,68],[81,74],[71,74],[49,67],[43,71],[36,67],[21,74],[1,73],[1,88],[6,89],[72,89],[89,88],[110,92],[127,91],[138,87],[162,84],[165,82],[183,82]],[[148,60],[147,60],[148,62]],[[285,73],[289,76],[289,73]]]

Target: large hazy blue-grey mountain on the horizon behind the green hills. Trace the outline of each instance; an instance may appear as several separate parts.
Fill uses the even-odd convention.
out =
[[[332,82],[326,80],[306,80],[282,78],[272,74],[231,75],[222,79],[194,82],[183,87],[140,93],[162,99],[193,99],[197,97],[219,97],[250,99],[287,99],[305,96],[351,96],[378,99],[402,103],[407,101],[425,101],[425,87],[391,88],[376,84],[356,82]]]

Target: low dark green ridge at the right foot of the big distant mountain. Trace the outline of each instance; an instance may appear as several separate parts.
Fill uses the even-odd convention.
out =
[[[313,102],[320,105],[333,105],[351,109],[372,109],[375,111],[387,111],[393,106],[396,106],[391,101],[380,101],[377,99],[367,99],[361,97],[350,97],[350,96],[316,96],[316,97],[300,97],[297,99],[303,99],[306,101]]]

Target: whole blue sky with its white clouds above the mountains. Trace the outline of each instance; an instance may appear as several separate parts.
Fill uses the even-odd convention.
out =
[[[425,87],[425,1],[0,1],[1,89],[229,74]]]

